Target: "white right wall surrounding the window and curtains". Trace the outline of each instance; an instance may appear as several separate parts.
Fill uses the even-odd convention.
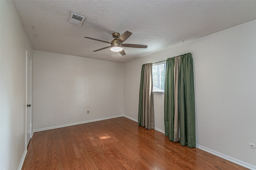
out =
[[[248,147],[256,144],[256,20],[124,63],[124,114],[138,119],[142,64],[188,52],[194,58],[196,143],[256,166],[256,149]],[[163,98],[154,94],[162,130]]]

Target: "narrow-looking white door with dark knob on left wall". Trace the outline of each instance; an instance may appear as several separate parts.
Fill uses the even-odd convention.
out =
[[[31,119],[31,98],[32,98],[32,61],[26,51],[26,148],[31,139],[32,119]]]

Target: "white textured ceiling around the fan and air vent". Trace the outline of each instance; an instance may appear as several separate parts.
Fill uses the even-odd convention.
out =
[[[256,0],[13,0],[35,50],[124,63],[173,45],[256,20]],[[70,12],[86,19],[68,22]],[[32,25],[34,29],[32,29]],[[126,55],[104,49],[112,33],[132,35]],[[35,36],[36,35],[36,36]]]

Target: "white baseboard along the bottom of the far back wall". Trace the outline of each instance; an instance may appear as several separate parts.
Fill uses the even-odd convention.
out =
[[[58,126],[51,126],[51,127],[44,127],[44,128],[34,129],[33,134],[34,134],[34,132],[46,131],[46,130],[50,130],[50,129],[56,129],[56,128],[60,128],[60,127],[79,125],[79,124],[83,124],[83,123],[90,123],[90,122],[101,121],[101,120],[106,120],[106,119],[113,119],[113,118],[122,117],[122,116],[124,116],[124,115],[116,115],[116,116],[104,117],[104,118],[100,118],[100,119],[80,121],[80,122],[76,122],[76,123],[68,123],[68,124],[65,124],[65,125],[58,125]]]

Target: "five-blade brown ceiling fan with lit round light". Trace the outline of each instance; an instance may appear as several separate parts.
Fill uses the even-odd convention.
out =
[[[147,45],[122,44],[131,35],[132,35],[132,33],[129,32],[129,31],[125,31],[121,36],[120,36],[120,33],[112,33],[112,36],[113,36],[114,40],[112,40],[111,43],[108,42],[108,41],[103,41],[103,40],[100,40],[100,39],[95,39],[95,38],[90,38],[90,37],[84,37],[84,38],[88,38],[88,39],[92,39],[92,40],[95,40],[95,41],[100,41],[100,42],[103,42],[103,43],[110,44],[110,46],[108,46],[108,47],[104,47],[104,48],[95,50],[93,52],[110,48],[111,51],[119,52],[121,55],[126,55],[126,53],[124,52],[123,47],[143,48],[143,49],[146,49],[148,47]]]

